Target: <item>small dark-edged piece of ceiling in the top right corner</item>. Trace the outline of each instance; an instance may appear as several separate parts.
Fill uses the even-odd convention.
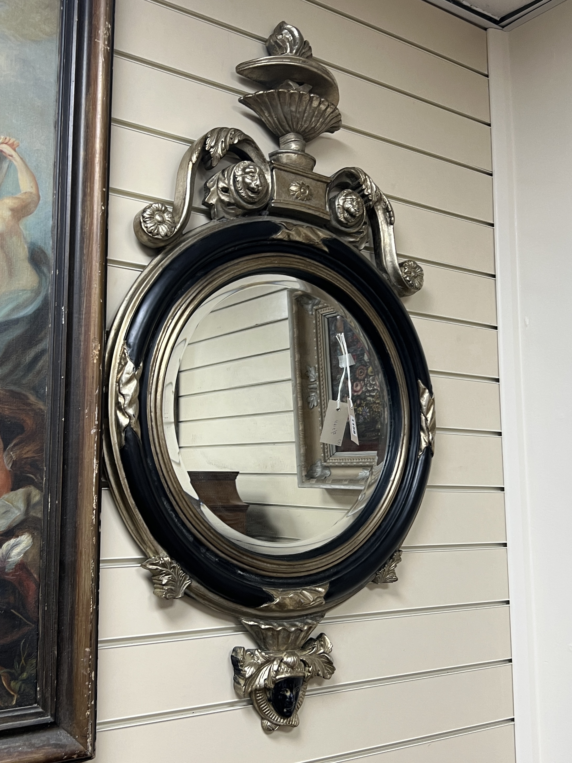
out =
[[[426,0],[480,27],[510,29],[564,0]]]

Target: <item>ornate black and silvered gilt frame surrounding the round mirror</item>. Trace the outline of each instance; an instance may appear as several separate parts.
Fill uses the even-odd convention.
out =
[[[156,201],[133,221],[138,240],[161,251],[131,288],[109,336],[104,451],[117,507],[148,557],[143,567],[156,595],[188,594],[236,617],[255,639],[259,649],[233,650],[234,684],[272,732],[297,726],[310,678],[335,670],[327,636],[310,637],[325,613],[368,583],[397,581],[400,544],[429,477],[435,405],[423,349],[400,301],[422,288],[423,270],[397,258],[390,202],[357,167],[331,177],[313,172],[316,160],[305,150],[307,141],[341,126],[336,80],[284,21],[266,47],[268,56],[236,67],[262,85],[239,101],[278,137],[279,149],[267,159],[241,130],[210,130],[182,158],[172,208]],[[212,221],[184,233],[199,170],[207,172],[203,204]],[[370,242],[374,262],[361,251]],[[220,288],[275,273],[331,295],[352,315],[387,381],[383,464],[367,456],[336,461],[320,443],[306,443],[304,452],[298,443],[299,459],[306,459],[302,485],[364,481],[378,471],[364,483],[353,523],[322,546],[290,555],[255,553],[214,530],[179,484],[163,426],[167,366],[189,318]],[[319,298],[303,297],[296,309],[320,320],[325,308]],[[300,353],[294,356],[300,365]],[[295,375],[302,408],[304,396],[325,394],[313,386],[310,369],[304,382],[305,369]],[[322,420],[323,407],[310,408]]]

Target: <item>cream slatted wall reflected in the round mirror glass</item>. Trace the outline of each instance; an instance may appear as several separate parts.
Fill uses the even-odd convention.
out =
[[[189,337],[179,374],[185,468],[240,472],[249,515],[284,539],[309,538],[341,518],[354,491],[298,488],[288,292],[252,286],[228,297]]]

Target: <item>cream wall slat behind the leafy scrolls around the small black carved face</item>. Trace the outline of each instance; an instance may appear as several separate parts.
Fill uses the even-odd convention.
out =
[[[339,686],[388,676],[455,668],[510,658],[508,607],[489,607],[387,617],[318,626],[333,643],[336,672],[315,686]],[[383,649],[356,649],[356,644]],[[423,649],[417,645],[423,643]],[[99,652],[98,680],[114,684],[100,696],[98,721],[160,713],[236,699],[230,652],[236,645],[255,646],[248,634],[116,647]],[[149,691],[149,671],[161,665],[171,677]],[[189,677],[192,680],[189,681]]]

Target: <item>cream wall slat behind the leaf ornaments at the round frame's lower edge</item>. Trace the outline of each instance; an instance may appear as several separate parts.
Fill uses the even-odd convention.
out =
[[[328,618],[373,615],[392,610],[451,607],[508,599],[506,549],[403,552],[395,584],[367,586],[331,610]],[[158,633],[216,630],[232,618],[185,599],[164,601],[153,594],[148,572],[138,566],[103,567],[99,638],[134,638]]]

